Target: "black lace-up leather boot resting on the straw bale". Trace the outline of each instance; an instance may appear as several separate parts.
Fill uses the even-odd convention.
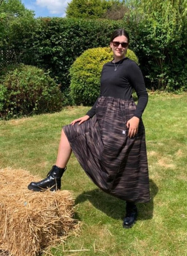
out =
[[[66,168],[67,166],[65,168],[59,168],[58,166],[53,165],[52,169],[48,172],[47,177],[45,179],[42,179],[42,181],[39,182],[31,182],[28,185],[28,189],[34,191],[45,191],[46,189],[49,188],[50,191],[60,189],[61,177]]]

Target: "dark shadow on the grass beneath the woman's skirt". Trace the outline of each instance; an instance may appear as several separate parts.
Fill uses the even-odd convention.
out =
[[[150,195],[151,200],[149,203],[136,203],[138,207],[138,220],[147,220],[153,218],[154,197],[158,193],[158,187],[152,179],[150,179]],[[122,219],[125,215],[125,201],[113,197],[101,189],[94,189],[84,191],[80,194],[75,204],[89,200],[92,205],[105,213],[107,216],[114,219]],[[77,216],[78,217],[78,216]]]

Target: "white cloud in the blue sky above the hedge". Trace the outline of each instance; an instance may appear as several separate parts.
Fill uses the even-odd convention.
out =
[[[51,14],[62,13],[62,17],[65,16],[65,9],[68,6],[70,0],[36,0],[36,4],[40,7],[46,7]]]

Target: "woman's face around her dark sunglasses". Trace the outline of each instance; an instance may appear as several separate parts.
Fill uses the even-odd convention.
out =
[[[119,42],[119,43],[128,43],[128,39],[126,38],[126,36],[122,35],[122,36],[117,36],[113,39],[113,42]],[[128,49],[128,45],[124,48],[121,46],[121,44],[119,44],[118,46],[114,46],[112,42],[110,42],[110,47],[113,51],[113,54],[115,57],[124,57],[126,50]]]

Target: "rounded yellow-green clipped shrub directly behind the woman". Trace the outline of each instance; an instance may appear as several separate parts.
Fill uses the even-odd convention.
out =
[[[92,105],[99,95],[100,78],[103,64],[113,59],[110,47],[98,47],[84,51],[70,68],[70,96],[73,104]],[[138,63],[138,58],[131,50],[126,57]]]

